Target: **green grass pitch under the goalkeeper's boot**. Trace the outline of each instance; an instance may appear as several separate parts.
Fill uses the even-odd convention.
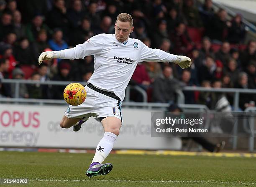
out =
[[[88,178],[93,154],[0,152],[0,179],[29,179],[23,187],[250,187],[256,158],[110,154],[113,170]]]

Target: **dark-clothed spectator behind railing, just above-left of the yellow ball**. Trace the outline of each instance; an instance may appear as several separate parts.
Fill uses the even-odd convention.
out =
[[[64,61],[59,66],[60,71],[54,76],[53,81],[72,81],[73,78],[70,75],[71,66],[68,62]],[[54,86],[52,88],[53,99],[63,99],[63,90],[65,86]]]

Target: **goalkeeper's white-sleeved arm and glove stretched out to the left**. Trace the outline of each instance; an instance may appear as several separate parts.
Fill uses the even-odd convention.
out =
[[[79,44],[74,48],[43,52],[38,58],[38,63],[41,64],[44,60],[49,60],[51,58],[74,60],[98,54],[104,47],[104,37],[105,36],[102,34],[95,35],[83,44]]]

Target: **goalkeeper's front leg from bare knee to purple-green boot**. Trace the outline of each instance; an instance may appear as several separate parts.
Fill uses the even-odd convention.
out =
[[[108,154],[110,154],[110,151],[113,149],[113,144],[119,135],[122,121],[117,117],[110,116],[102,119],[101,123],[105,133],[97,145],[95,155],[92,159],[92,164],[86,171],[86,175],[88,177],[108,174],[113,168],[112,164],[102,164],[102,162],[106,157],[108,157]]]

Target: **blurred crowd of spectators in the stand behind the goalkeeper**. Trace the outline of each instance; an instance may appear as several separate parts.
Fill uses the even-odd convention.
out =
[[[192,58],[182,70],[174,63],[138,63],[130,81],[148,93],[149,102],[169,103],[183,86],[256,88],[256,40],[244,43],[242,16],[228,18],[212,0],[0,0],[0,80],[3,78],[88,81],[93,56],[54,59],[38,64],[43,51],[59,51],[90,37],[115,32],[119,13],[133,16],[134,31],[148,47]],[[0,84],[0,96],[14,97],[15,86]],[[64,86],[20,84],[20,98],[62,99]],[[184,91],[186,104],[216,109],[220,93]],[[232,105],[233,95],[227,94]],[[136,91],[131,99],[141,101]],[[239,106],[253,106],[255,96],[240,94]]]

